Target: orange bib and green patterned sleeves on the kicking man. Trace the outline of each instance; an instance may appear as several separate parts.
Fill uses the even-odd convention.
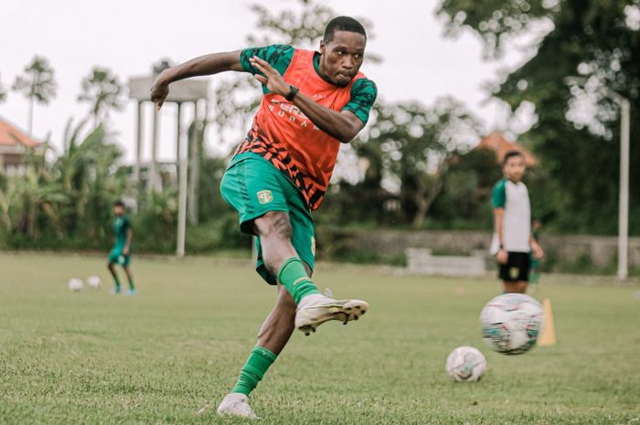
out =
[[[252,74],[259,72],[249,61],[253,56],[269,62],[287,83],[314,101],[337,112],[352,112],[363,124],[368,122],[378,90],[364,74],[358,73],[346,87],[338,87],[320,77],[319,53],[285,45],[242,50],[240,64]],[[247,139],[236,150],[236,158],[247,152],[260,154],[293,181],[314,210],[324,197],[340,143],[316,127],[293,102],[266,87],[262,91],[260,109]]]

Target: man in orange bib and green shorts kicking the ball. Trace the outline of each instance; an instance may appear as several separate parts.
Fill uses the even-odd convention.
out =
[[[221,183],[225,201],[240,215],[240,231],[257,236],[256,271],[277,285],[278,298],[258,342],[219,415],[256,418],[249,395],[282,352],[294,328],[309,335],[329,320],[345,324],[368,303],[323,296],[311,280],[314,222],[336,165],[368,121],[377,96],[359,72],[367,35],[357,20],[340,16],[325,27],[319,51],[284,45],[245,48],[194,58],[165,69],[151,100],[159,109],[176,80],[222,71],[250,72],[263,97],[247,138],[238,146]]]

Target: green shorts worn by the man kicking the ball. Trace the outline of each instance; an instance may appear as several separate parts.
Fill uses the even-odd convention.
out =
[[[315,234],[311,218],[300,190],[258,154],[245,153],[233,158],[220,184],[222,198],[240,215],[240,231],[254,235],[251,222],[269,211],[285,211],[293,228],[293,248],[314,270]],[[269,284],[276,284],[264,266],[260,238],[256,238],[258,261],[256,271]]]

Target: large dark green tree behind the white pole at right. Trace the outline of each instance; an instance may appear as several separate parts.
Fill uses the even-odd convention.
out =
[[[450,34],[471,28],[482,37],[487,58],[497,58],[513,37],[551,28],[534,37],[534,53],[519,69],[495,81],[492,93],[512,109],[524,101],[536,105],[538,122],[519,137],[541,159],[551,186],[562,200],[549,211],[557,228],[567,231],[614,233],[620,132],[618,108],[604,98],[607,87],[630,99],[631,145],[640,143],[640,0],[602,2],[564,0],[491,0],[480,3],[443,0],[439,14]],[[550,65],[552,64],[552,65]],[[580,75],[587,88],[568,87],[566,77]],[[595,113],[581,105],[590,104]],[[614,137],[615,135],[615,137]],[[640,150],[631,150],[631,164]],[[630,231],[640,233],[640,197],[631,169]],[[533,197],[533,193],[532,193]]]

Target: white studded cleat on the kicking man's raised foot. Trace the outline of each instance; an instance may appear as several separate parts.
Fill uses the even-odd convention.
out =
[[[307,300],[307,298],[309,300]],[[339,320],[347,324],[367,313],[368,303],[362,300],[336,300],[332,297],[309,295],[304,297],[295,313],[295,327],[304,335],[311,335],[321,324]]]

